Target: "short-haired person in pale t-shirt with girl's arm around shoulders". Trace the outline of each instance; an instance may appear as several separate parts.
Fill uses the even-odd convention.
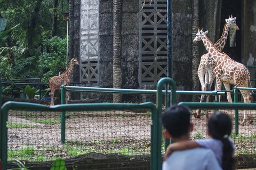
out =
[[[167,108],[161,122],[164,134],[174,143],[190,141],[190,132],[194,124],[190,122],[191,110],[182,105]],[[217,158],[211,149],[197,147],[174,151],[163,162],[162,170],[189,169],[189,170],[221,170]]]

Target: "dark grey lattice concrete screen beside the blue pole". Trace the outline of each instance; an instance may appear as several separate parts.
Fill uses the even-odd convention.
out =
[[[154,0],[151,3],[147,0],[140,10],[140,84],[155,85],[159,79],[166,77],[166,14],[166,0]]]

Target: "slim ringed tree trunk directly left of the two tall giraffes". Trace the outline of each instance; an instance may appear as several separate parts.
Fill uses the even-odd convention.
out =
[[[193,0],[193,19],[192,19],[192,39],[195,38],[197,30],[199,28],[199,4],[198,0]],[[199,79],[197,76],[197,69],[200,63],[200,56],[199,56],[199,47],[198,43],[192,44],[192,81],[193,86],[192,90],[198,91],[199,90]],[[197,101],[198,99],[196,96],[193,96],[193,101]]]

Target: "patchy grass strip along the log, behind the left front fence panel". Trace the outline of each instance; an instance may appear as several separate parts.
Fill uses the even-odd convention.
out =
[[[119,138],[110,141],[93,140],[84,141],[68,141],[63,145],[41,146],[36,148],[27,145],[22,148],[12,148],[8,152],[8,160],[29,160],[29,161],[47,161],[54,160],[60,157],[75,157],[86,153],[120,153],[122,155],[149,155],[150,146],[136,142],[136,144],[127,147],[122,145],[122,140]]]

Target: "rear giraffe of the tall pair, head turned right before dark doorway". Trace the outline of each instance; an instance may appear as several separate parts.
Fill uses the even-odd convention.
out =
[[[236,17],[233,18],[232,15],[231,15],[231,17],[228,16],[228,19],[226,19],[226,23],[223,28],[222,35],[221,35],[220,39],[214,44],[214,46],[217,47],[218,50],[220,50],[220,51],[223,50],[223,48],[227,42],[229,29],[239,30],[238,26],[236,25]],[[216,63],[214,62],[214,60],[212,58],[209,58],[208,53],[201,56],[200,64],[199,64],[199,67],[197,70],[197,75],[198,75],[199,81],[201,83],[202,91],[211,89],[213,80],[215,78],[215,74],[213,72],[215,65],[216,65]],[[206,85],[208,87],[206,87]],[[205,94],[201,95],[200,102],[203,102],[204,96],[205,96]],[[206,102],[209,102],[209,97],[210,96],[207,97]],[[197,118],[201,117],[201,110],[197,109],[194,116]],[[209,117],[208,110],[206,111],[206,117],[207,118]]]

